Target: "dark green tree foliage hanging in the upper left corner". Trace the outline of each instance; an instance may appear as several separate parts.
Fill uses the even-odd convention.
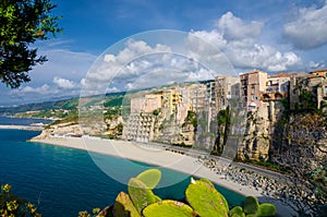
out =
[[[0,80],[11,88],[29,82],[28,71],[47,61],[31,45],[49,39],[61,29],[50,0],[1,0],[0,3]]]

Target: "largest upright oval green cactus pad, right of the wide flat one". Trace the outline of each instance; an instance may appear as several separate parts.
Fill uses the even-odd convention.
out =
[[[228,217],[226,198],[206,181],[192,181],[185,192],[186,200],[199,216]]]

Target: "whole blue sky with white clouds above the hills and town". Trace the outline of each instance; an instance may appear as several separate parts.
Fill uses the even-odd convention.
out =
[[[198,58],[213,57],[211,61],[217,61],[219,55],[235,73],[253,69],[272,74],[327,68],[325,0],[52,2],[58,4],[53,13],[62,16],[63,33],[36,44],[49,61],[36,67],[31,72],[32,82],[17,89],[0,84],[0,106],[78,96],[87,85],[95,93],[99,88],[138,88],[144,83],[156,84],[159,76],[169,77],[167,71],[182,71],[179,75],[184,79],[198,77],[196,73],[205,71],[201,64],[206,61],[198,62]],[[178,50],[181,38],[165,44],[159,36],[145,34],[156,38],[147,40],[144,33],[155,29],[185,33],[191,50]],[[140,33],[144,37],[129,39]],[[219,53],[204,49],[206,46],[190,39],[189,34],[210,44]],[[180,81],[179,76],[174,79]],[[99,80],[105,82],[98,85]],[[167,81],[174,82],[171,77]]]

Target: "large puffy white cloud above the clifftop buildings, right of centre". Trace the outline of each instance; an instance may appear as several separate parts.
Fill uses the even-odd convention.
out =
[[[263,25],[263,23],[256,21],[244,22],[228,12],[217,22],[217,26],[221,32],[214,29],[210,32],[194,32],[193,34],[219,48],[220,56],[225,56],[238,71],[261,69],[276,72],[288,71],[302,65],[302,59],[296,53],[292,51],[283,52],[277,47],[256,43],[255,38],[259,37]],[[199,52],[198,55],[213,57],[210,53]],[[217,59],[221,60],[222,57]]]

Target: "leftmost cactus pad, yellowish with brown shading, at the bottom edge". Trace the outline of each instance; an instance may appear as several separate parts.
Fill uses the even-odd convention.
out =
[[[141,217],[136,210],[133,202],[131,201],[129,194],[120,192],[116,198],[113,206],[113,216],[131,216],[131,217]]]

